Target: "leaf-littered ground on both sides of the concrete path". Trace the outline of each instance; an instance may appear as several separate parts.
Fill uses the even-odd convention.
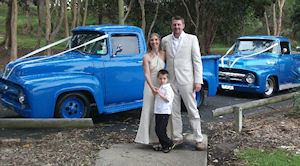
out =
[[[244,165],[236,157],[244,148],[288,146],[300,153],[300,120],[287,112],[247,116],[241,133],[233,131],[231,121],[203,124],[209,141],[208,164]],[[103,115],[89,129],[2,129],[0,165],[94,165],[102,149],[133,143],[139,115],[139,110]],[[186,113],[183,117],[187,120]]]

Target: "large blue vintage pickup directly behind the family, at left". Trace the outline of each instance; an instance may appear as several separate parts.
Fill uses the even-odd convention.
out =
[[[99,114],[141,107],[143,31],[135,26],[92,25],[72,33],[9,63],[1,74],[1,103],[31,118],[83,118],[90,115],[91,107]],[[61,53],[30,57],[67,40]],[[208,96],[217,91],[218,59],[202,58]],[[203,99],[201,91],[197,100]]]

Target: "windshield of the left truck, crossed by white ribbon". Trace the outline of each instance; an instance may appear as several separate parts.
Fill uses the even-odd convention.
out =
[[[69,42],[67,48],[74,48],[100,36],[102,36],[102,34],[99,33],[75,33],[72,36],[72,39]],[[77,51],[88,54],[107,54],[106,39],[99,40],[97,42],[78,48]]]

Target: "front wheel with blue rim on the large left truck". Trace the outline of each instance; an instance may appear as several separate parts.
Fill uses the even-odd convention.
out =
[[[90,113],[89,99],[82,93],[72,92],[60,96],[56,102],[55,117],[85,118]]]

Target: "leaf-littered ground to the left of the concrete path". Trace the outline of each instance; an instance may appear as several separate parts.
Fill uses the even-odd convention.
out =
[[[88,129],[1,129],[0,165],[94,165],[100,150],[133,142],[139,112],[103,115]]]

